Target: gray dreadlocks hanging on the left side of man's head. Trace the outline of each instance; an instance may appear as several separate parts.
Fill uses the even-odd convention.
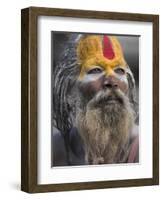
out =
[[[62,56],[53,66],[53,119],[55,126],[66,137],[73,124],[75,108],[71,90],[79,75],[79,63],[76,56],[75,34],[69,38],[62,50]]]

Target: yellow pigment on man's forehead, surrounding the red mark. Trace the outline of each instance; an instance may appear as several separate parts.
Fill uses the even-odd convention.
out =
[[[77,56],[80,61],[82,79],[94,66],[102,67],[106,74],[111,74],[118,65],[126,67],[126,61],[120,43],[114,36],[109,36],[114,51],[114,58],[108,59],[103,55],[102,36],[90,35],[82,38],[77,46]]]

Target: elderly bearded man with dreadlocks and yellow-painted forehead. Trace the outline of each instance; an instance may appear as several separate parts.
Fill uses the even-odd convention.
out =
[[[53,165],[138,162],[135,82],[118,39],[78,36],[53,75]]]

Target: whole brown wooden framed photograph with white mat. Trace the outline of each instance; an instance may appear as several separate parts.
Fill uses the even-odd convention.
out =
[[[21,189],[159,184],[159,16],[21,11]]]

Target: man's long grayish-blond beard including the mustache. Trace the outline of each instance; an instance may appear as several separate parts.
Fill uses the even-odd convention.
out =
[[[83,139],[88,164],[124,162],[128,155],[134,114],[128,98],[120,91],[115,94],[121,102],[107,103],[108,93],[99,92],[84,109],[78,106],[76,127]],[[123,156],[122,151],[125,151]]]

